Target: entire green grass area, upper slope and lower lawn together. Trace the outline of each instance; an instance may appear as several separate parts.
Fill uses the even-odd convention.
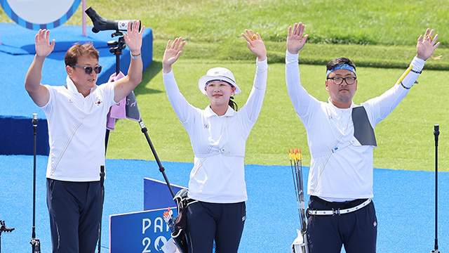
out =
[[[427,27],[440,34],[439,61],[428,60],[422,76],[398,108],[375,129],[375,167],[434,169],[433,125],[440,124],[440,170],[449,171],[448,71],[449,3],[424,1],[87,1],[104,18],[137,18],[154,34],[154,63],[135,90],[142,119],[149,128],[161,160],[192,162],[189,138],[166,98],[161,60],[168,39],[182,36],[187,45],[173,67],[187,100],[199,108],[208,104],[196,83],[210,67],[233,70],[246,101],[255,71],[255,57],[246,48],[241,32],[260,32],[268,50],[271,71],[260,118],[247,143],[247,164],[288,164],[288,147],[300,147],[309,163],[307,138],[286,92],[285,66],[288,26],[302,21],[309,41],[301,51],[302,84],[319,100],[324,90],[325,64],[345,56],[358,66],[355,103],[380,95],[391,87],[415,55],[417,37]],[[67,22],[81,24],[81,8]],[[0,12],[1,22],[11,22]],[[90,24],[88,20],[88,24]],[[4,36],[4,34],[2,34]],[[136,122],[120,120],[112,132],[107,158],[154,160]]]

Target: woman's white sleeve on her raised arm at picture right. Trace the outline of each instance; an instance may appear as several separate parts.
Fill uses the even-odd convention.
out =
[[[257,60],[256,60],[257,61]],[[248,100],[241,108],[241,112],[245,112],[253,124],[259,117],[260,110],[262,109],[262,102],[264,100],[265,90],[267,88],[267,72],[268,63],[267,59],[257,61],[257,69],[255,70],[255,77],[253,83],[253,89],[251,89]]]

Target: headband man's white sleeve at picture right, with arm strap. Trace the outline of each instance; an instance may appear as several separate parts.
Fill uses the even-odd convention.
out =
[[[413,70],[420,72],[424,67],[424,60],[420,58],[413,58],[411,65],[413,65]],[[415,83],[419,74],[415,72],[408,72],[407,76],[403,79],[402,84],[406,87],[411,87]],[[382,95],[371,98],[370,100],[362,103],[361,105],[367,108],[368,117],[370,117],[370,122],[373,122],[374,126],[379,123],[382,119],[385,119],[396,106],[401,102],[403,98],[406,97],[410,89],[404,88],[401,84],[395,84],[391,89],[385,91]]]

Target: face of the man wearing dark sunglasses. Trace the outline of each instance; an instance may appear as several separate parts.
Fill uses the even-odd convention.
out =
[[[96,67],[98,66],[98,59],[93,56],[81,56],[78,58],[78,63],[76,66],[67,66],[67,74],[69,74],[70,79],[74,82],[79,93],[87,96],[93,86],[97,83],[98,74],[92,71],[90,74],[86,74],[86,70],[83,67]]]

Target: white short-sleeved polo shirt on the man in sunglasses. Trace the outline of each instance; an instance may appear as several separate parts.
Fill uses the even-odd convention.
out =
[[[84,98],[67,77],[67,86],[45,85],[50,99],[42,110],[48,121],[48,179],[99,181],[105,164],[106,116],[114,84],[94,86]]]

